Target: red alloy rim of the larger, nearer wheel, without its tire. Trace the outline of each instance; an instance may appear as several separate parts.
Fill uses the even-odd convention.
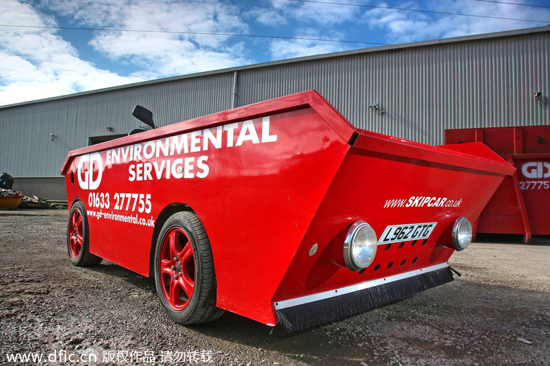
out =
[[[187,233],[180,227],[170,229],[159,254],[162,296],[173,310],[184,310],[195,288],[195,254]]]

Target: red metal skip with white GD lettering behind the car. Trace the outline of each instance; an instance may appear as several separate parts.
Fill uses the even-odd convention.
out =
[[[478,233],[550,234],[550,126],[445,130],[445,144],[483,142],[518,170],[500,184]],[[453,145],[454,146],[454,145]]]

